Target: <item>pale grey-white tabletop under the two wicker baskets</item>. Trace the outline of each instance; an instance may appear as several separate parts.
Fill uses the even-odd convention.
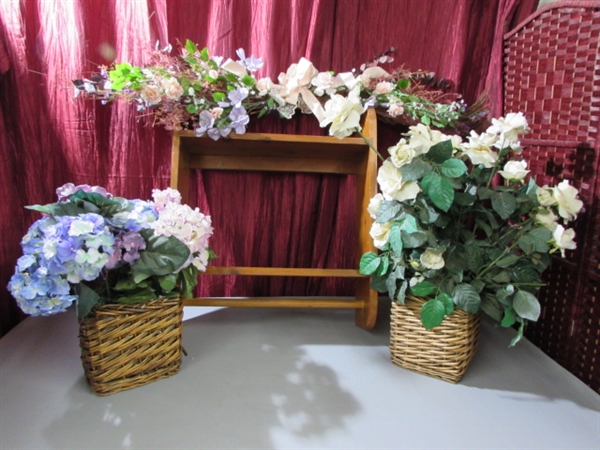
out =
[[[594,449],[600,396],[485,323],[458,385],[390,362],[389,316],[186,308],[181,371],[97,397],[73,312],[0,340],[0,448]]]

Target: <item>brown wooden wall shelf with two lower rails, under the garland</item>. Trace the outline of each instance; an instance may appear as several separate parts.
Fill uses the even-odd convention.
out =
[[[363,135],[377,145],[377,117],[368,110],[363,118]],[[356,309],[356,324],[365,329],[377,319],[377,291],[370,288],[370,277],[358,271],[363,253],[376,251],[369,235],[372,219],[367,212],[369,200],[377,192],[377,156],[362,137],[335,137],[246,133],[213,141],[196,137],[192,131],[173,134],[171,187],[188,202],[190,177],[195,169],[240,170],[293,173],[330,173],[356,176],[357,249],[351,269],[285,267],[215,267],[206,274],[286,277],[356,278],[354,298],[350,297],[251,297],[190,298],[189,306],[241,306],[285,308]]]

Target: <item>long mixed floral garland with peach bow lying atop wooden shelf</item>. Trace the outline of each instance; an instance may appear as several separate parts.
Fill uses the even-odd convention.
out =
[[[380,63],[393,61],[393,48],[359,71],[336,74],[319,71],[306,58],[280,73],[277,82],[254,75],[264,62],[237,50],[237,60],[211,56],[187,40],[181,56],[171,46],[158,48],[151,64],[127,62],[100,67],[90,78],[74,80],[75,96],[106,104],[121,99],[154,116],[154,125],[167,130],[192,129],[212,139],[244,134],[250,117],[276,111],[290,119],[299,109],[313,114],[329,134],[344,138],[360,131],[360,117],[369,107],[388,121],[423,123],[467,134],[485,117],[481,104],[467,109],[460,95],[449,93],[447,82],[433,74],[397,70],[388,73]]]

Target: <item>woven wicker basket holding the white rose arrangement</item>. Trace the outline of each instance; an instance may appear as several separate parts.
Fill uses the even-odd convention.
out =
[[[455,310],[441,325],[426,330],[421,323],[425,300],[407,297],[392,302],[390,353],[392,362],[413,372],[458,383],[477,348],[481,315]]]

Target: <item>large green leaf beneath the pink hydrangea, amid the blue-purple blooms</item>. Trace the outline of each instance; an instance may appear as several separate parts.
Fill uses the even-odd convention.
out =
[[[156,236],[148,229],[140,234],[146,241],[146,249],[131,266],[134,277],[174,273],[190,256],[189,248],[174,236]]]

